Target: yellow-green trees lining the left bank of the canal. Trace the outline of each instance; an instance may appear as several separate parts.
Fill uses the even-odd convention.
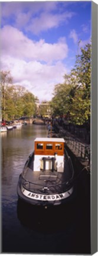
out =
[[[35,97],[24,87],[12,85],[10,72],[1,71],[2,120],[12,120],[35,114]]]

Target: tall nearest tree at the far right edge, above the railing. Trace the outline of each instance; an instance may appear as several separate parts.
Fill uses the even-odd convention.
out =
[[[76,57],[72,73],[77,85],[72,101],[71,120],[76,124],[90,122],[91,44],[81,48],[81,55]]]

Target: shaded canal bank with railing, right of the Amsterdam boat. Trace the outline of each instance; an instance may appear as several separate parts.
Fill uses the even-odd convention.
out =
[[[78,190],[84,194],[90,210],[90,145],[82,138],[68,132],[57,121],[54,121],[53,127],[55,132],[65,140],[65,148],[73,162],[74,184],[77,183]]]

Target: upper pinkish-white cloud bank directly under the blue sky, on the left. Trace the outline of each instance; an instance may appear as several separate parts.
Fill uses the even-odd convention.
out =
[[[28,39],[17,28],[5,26],[1,31],[2,55],[11,55],[23,60],[38,60],[52,62],[67,57],[68,46],[66,39],[59,39],[57,43],[45,43]]]

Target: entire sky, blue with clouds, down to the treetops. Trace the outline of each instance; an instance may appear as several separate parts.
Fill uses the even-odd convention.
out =
[[[90,42],[91,1],[1,2],[1,70],[40,101],[73,68]]]

